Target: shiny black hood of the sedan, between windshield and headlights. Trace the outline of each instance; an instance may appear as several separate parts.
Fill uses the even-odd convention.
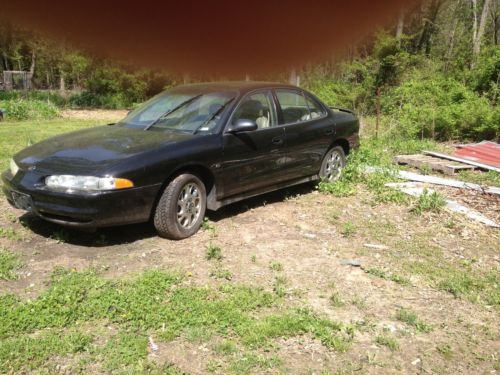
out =
[[[192,137],[186,133],[99,126],[36,143],[19,152],[14,159],[22,169],[92,175],[102,173],[123,159]]]

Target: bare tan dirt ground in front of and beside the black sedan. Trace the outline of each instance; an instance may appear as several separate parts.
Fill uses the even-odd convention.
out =
[[[416,216],[408,206],[375,205],[363,191],[336,198],[312,185],[240,202],[209,213],[208,218],[212,229],[183,241],[157,237],[150,224],[80,233],[24,215],[1,199],[0,226],[12,229],[12,235],[0,238],[0,246],[20,254],[25,265],[18,280],[0,281],[0,293],[33,298],[46,288],[56,266],[95,267],[109,278],[151,268],[172,269],[194,285],[230,282],[269,290],[279,273],[286,277],[287,303],[310,306],[355,327],[353,345],[345,353],[328,350],[308,336],[277,340],[277,355],[283,360],[280,371],[500,371],[498,308],[455,298],[436,288],[432,277],[411,271],[424,258],[449,264],[474,260],[474,267],[498,270],[498,230],[447,212]],[[230,271],[230,281],[210,276],[214,265],[206,259],[206,249],[211,243],[222,249],[222,266]],[[440,257],[432,258],[434,253]],[[282,270],[272,267],[277,263]],[[377,277],[368,272],[371,269],[404,275],[410,283]],[[330,300],[334,291],[341,300],[336,306]],[[415,311],[432,330],[418,332],[398,320],[396,312],[402,307]],[[397,339],[399,350],[380,345],[377,337],[383,334]],[[151,356],[201,374],[214,354],[180,337],[160,343]]]

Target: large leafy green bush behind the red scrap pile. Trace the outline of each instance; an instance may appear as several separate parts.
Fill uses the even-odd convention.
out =
[[[500,110],[452,78],[416,76],[382,99],[382,111],[399,123],[397,136],[480,140],[500,135]]]

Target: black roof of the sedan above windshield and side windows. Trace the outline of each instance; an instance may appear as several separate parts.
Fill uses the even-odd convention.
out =
[[[287,85],[278,82],[257,82],[257,81],[228,81],[228,82],[204,82],[176,86],[169,90],[171,92],[216,92],[216,91],[238,91],[241,95],[256,89],[271,87],[298,89],[297,86]]]

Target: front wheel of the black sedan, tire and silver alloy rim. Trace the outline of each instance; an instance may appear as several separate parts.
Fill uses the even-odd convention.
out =
[[[203,182],[195,175],[180,174],[167,185],[156,205],[156,231],[171,240],[190,237],[200,229],[206,207]]]

